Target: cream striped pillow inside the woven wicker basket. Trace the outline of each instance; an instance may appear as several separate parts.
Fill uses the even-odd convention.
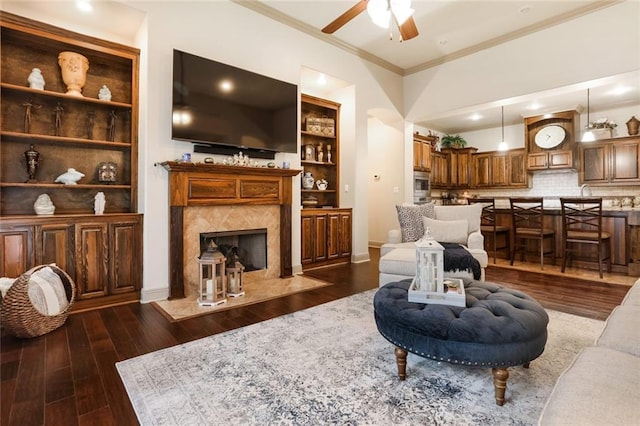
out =
[[[33,307],[42,315],[58,315],[69,305],[60,276],[49,266],[31,274],[27,294]]]

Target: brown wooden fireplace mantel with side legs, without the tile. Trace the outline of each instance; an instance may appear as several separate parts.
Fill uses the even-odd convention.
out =
[[[279,205],[280,275],[292,275],[292,178],[302,170],[166,161],[169,172],[169,298],[183,298],[184,209],[189,206]]]

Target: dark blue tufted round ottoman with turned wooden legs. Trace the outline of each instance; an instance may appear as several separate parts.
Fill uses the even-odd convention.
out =
[[[526,294],[498,284],[465,280],[467,307],[411,303],[411,280],[381,287],[373,300],[378,331],[396,346],[404,380],[407,352],[470,367],[491,367],[496,403],[504,404],[507,367],[529,366],[547,342],[549,317]]]

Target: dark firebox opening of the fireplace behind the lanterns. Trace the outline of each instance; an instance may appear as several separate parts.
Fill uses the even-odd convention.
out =
[[[225,257],[237,247],[245,272],[267,268],[267,228],[203,232],[200,234],[201,254],[207,250],[211,240]]]

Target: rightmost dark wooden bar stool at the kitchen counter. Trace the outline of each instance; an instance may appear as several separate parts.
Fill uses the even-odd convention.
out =
[[[591,244],[597,247],[600,278],[603,261],[607,261],[607,272],[611,272],[611,234],[602,230],[602,198],[560,198],[560,206],[562,272],[569,257],[574,253],[582,254],[577,244]]]

